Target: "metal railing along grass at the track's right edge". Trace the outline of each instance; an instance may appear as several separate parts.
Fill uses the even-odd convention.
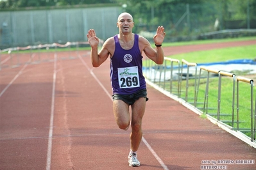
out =
[[[175,66],[173,65],[173,62],[178,63]],[[182,65],[180,65],[182,63]],[[189,68],[194,67],[194,70],[189,70]],[[187,69],[186,73],[183,73],[183,69]],[[255,109],[253,109],[253,80],[247,79],[244,77],[236,77],[234,73],[229,72],[223,72],[221,70],[211,70],[205,66],[200,66],[200,73],[198,75],[197,73],[198,65],[196,63],[189,63],[188,61],[185,61],[185,59],[182,59],[182,62],[180,62],[178,59],[171,59],[171,58],[164,58],[164,65],[156,65],[153,63],[153,61],[147,59],[144,63],[144,75],[148,79],[148,81],[153,82],[154,86],[157,86],[161,89],[161,91],[165,91],[166,94],[171,93],[171,95],[176,96],[176,100],[182,100],[187,105],[190,105],[190,107],[195,107],[198,109],[200,114],[207,114],[207,117],[209,117],[212,120],[215,120],[217,123],[221,123],[221,125],[224,125],[228,129],[232,130],[232,132],[243,132],[243,137],[246,137],[247,141],[250,141],[249,144],[251,144],[253,147],[256,148],[256,141],[255,141],[255,119],[256,119],[256,101],[255,101]],[[207,72],[207,75],[203,74],[202,71]],[[212,76],[210,76],[212,74]],[[176,76],[174,76],[176,75]],[[218,77],[216,77],[218,75]],[[174,78],[175,77],[175,78]],[[230,77],[230,78],[228,78]],[[210,85],[210,78],[216,79],[218,78],[218,82],[216,84]],[[232,84],[232,88],[229,88],[230,95],[228,95],[228,102],[231,105],[232,109],[231,111],[227,113],[223,113],[221,109],[221,101],[226,102],[226,98],[223,100],[223,97],[221,97],[221,92],[223,91],[223,85],[222,79],[225,78],[225,83],[228,82]],[[206,79],[206,82],[200,82]],[[231,81],[232,80],[232,81]],[[173,82],[176,81],[176,90],[174,91]],[[190,81],[190,82],[189,82]],[[185,86],[182,86],[182,83],[185,82]],[[191,85],[192,82],[192,85]],[[214,81],[213,81],[214,82]],[[235,82],[237,82],[237,86],[235,86]],[[239,82],[247,82],[250,83],[250,128],[239,128],[239,123],[244,122],[246,120],[239,120]],[[169,85],[169,88],[167,88],[166,85]],[[200,91],[200,86],[205,85],[205,91],[201,89],[201,93],[204,93],[203,102],[201,102],[200,98],[198,97],[198,92]],[[209,87],[212,86],[214,90],[216,90],[216,86],[218,91],[214,92],[214,94],[218,93],[217,98],[217,106],[216,112],[210,113],[209,109]],[[189,90],[189,88],[193,88]],[[237,90],[237,93],[235,93],[235,89]],[[176,93],[175,93],[176,92]],[[224,92],[226,93],[226,89],[224,89]],[[185,96],[184,96],[185,95]],[[241,95],[241,94],[240,94]],[[235,115],[235,98],[237,98],[236,104],[237,104],[237,113]],[[189,99],[192,99],[189,100]],[[247,99],[246,99],[247,100]],[[201,108],[199,105],[203,104],[203,108]],[[254,111],[253,111],[254,110]],[[254,112],[254,115],[253,115]],[[235,121],[236,117],[236,121]],[[221,118],[229,118],[230,120],[222,120]],[[235,128],[235,124],[236,128]],[[250,131],[250,137],[249,135],[244,134],[246,132]],[[247,143],[246,141],[246,143]]]

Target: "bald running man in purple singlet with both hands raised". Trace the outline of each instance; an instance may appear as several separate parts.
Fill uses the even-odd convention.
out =
[[[166,33],[163,26],[157,28],[157,33],[153,36],[156,49],[153,49],[146,38],[132,33],[133,26],[132,15],[121,13],[117,19],[119,34],[108,38],[99,53],[99,38],[94,29],[88,31],[87,38],[91,47],[92,66],[100,66],[110,56],[115,121],[123,130],[128,130],[131,124],[128,162],[129,166],[140,166],[137,150],[142,139],[142,117],[148,100],[146,82],[142,75],[142,52],[144,51],[146,56],[158,65],[162,65],[164,62],[162,42]]]

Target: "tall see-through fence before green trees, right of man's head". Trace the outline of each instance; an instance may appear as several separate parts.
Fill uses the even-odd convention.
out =
[[[134,12],[138,8],[133,6],[127,6],[126,11],[135,13],[133,31],[141,33],[149,40],[152,40],[157,26],[165,27],[166,42],[256,35],[255,31],[246,31],[256,29],[256,17],[253,15],[256,8],[253,8],[252,1],[243,6],[244,12],[238,12],[239,8],[235,8],[237,11],[230,10],[227,1],[203,1],[200,4],[165,2],[166,6],[162,8],[148,7],[146,1],[141,4],[145,6],[140,6],[139,13]],[[226,29],[243,29],[243,33],[237,35],[228,31],[228,34],[219,35]]]

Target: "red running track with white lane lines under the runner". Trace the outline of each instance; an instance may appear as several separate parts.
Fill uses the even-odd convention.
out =
[[[256,169],[255,148],[150,86],[141,167],[129,167],[130,129],[114,121],[109,61],[92,68],[88,51],[53,55],[0,72],[0,169],[200,169],[212,160],[253,160],[219,165]]]

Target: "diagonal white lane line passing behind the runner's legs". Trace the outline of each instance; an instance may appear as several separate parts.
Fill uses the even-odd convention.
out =
[[[92,75],[92,77],[94,77],[94,79],[96,79],[96,81],[99,83],[99,85],[101,86],[101,88],[103,88],[103,90],[107,93],[108,97],[110,97],[110,99],[112,100],[112,95],[110,95],[110,93],[108,93],[107,89],[103,86],[103,84],[101,84],[101,82],[99,81],[99,79],[96,77],[96,75],[92,72],[92,69],[89,68],[89,66],[87,65],[87,63],[85,63],[85,61],[81,58],[80,54],[78,54],[78,57],[80,58],[81,62],[83,63],[83,65],[85,65],[85,67],[89,70],[90,74]],[[169,170],[168,167],[164,164],[164,162],[162,161],[162,159],[160,157],[158,157],[157,153],[155,153],[155,151],[153,150],[153,148],[151,148],[151,146],[148,144],[148,142],[146,141],[146,139],[142,136],[142,141],[144,144],[146,144],[146,146],[148,147],[149,151],[151,151],[151,153],[153,154],[153,156],[157,159],[157,161],[159,162],[159,164],[165,169],[165,170]]]

